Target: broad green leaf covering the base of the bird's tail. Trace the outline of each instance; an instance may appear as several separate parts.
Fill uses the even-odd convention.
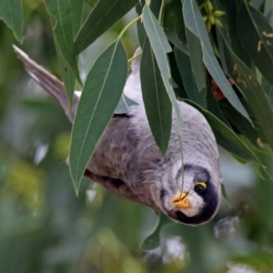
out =
[[[127,59],[120,40],[106,48],[86,77],[72,129],[70,172],[76,193],[96,144],[110,122],[126,83]]]

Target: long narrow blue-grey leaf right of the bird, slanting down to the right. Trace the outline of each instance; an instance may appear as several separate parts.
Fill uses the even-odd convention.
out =
[[[206,26],[195,1],[184,1],[183,15],[187,28],[197,35],[201,42],[203,62],[207,67],[208,72],[214,78],[217,86],[219,86],[221,91],[225,94],[230,104],[234,106],[238,112],[241,113],[241,115],[249,119],[246,109],[239,101],[238,96],[230,86],[229,82],[227,81],[227,77],[217,62],[217,58],[213,52],[209,37],[207,35]]]

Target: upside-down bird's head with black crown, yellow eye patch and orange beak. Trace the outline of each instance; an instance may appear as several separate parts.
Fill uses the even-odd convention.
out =
[[[221,200],[220,177],[212,175],[206,167],[191,164],[186,164],[183,172],[181,167],[177,170],[174,167],[172,174],[175,177],[169,178],[175,180],[177,185],[169,180],[168,185],[173,186],[168,189],[162,187],[159,194],[162,210],[167,216],[192,226],[206,223],[214,217]],[[167,179],[167,176],[163,179]]]

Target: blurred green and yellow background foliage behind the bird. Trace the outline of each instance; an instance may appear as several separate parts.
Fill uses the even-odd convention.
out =
[[[30,80],[12,45],[60,75],[44,1],[25,0],[20,45],[0,21],[0,272],[273,272],[273,183],[221,151],[229,197],[200,227],[173,224],[84,180],[66,166],[71,124]],[[86,5],[86,12],[88,6]],[[81,76],[135,12],[79,57]],[[136,29],[127,32],[127,55]],[[267,166],[272,157],[261,155]],[[273,171],[270,169],[273,175]]]

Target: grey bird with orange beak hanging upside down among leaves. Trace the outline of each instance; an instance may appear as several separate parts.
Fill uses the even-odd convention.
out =
[[[28,74],[56,98],[73,122],[79,96],[75,94],[71,111],[64,84],[16,46],[15,53]],[[140,57],[133,61],[124,89],[126,96],[138,105],[130,106],[126,115],[113,116],[88,163],[85,176],[117,196],[153,207],[176,222],[192,226],[205,223],[217,213],[221,200],[215,136],[204,116],[194,107],[178,101],[183,120],[183,165],[174,117],[167,154],[162,157],[147,122],[140,61]]]

